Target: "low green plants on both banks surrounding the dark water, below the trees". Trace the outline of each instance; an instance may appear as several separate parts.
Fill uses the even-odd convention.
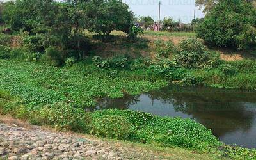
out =
[[[99,44],[90,56],[81,61],[67,59],[60,67],[53,67],[53,60],[44,61],[44,52],[24,52],[24,46],[1,51],[5,57],[0,60],[0,113],[61,131],[147,145],[157,143],[223,158],[255,158],[255,150],[225,146],[209,129],[193,120],[131,111],[84,111],[103,97],[138,95],[168,84],[255,90],[255,60],[223,61],[218,53],[195,39],[179,45],[143,38],[136,44],[122,40],[95,43]],[[107,52],[99,45],[115,44],[118,54],[111,48],[104,56]],[[120,51],[129,51],[127,54],[131,55]]]

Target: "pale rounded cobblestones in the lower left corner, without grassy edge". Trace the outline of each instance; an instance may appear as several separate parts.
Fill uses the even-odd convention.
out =
[[[3,118],[2,118],[3,119]],[[15,120],[14,120],[15,121]],[[152,152],[116,146],[79,134],[0,121],[0,159],[161,159]]]

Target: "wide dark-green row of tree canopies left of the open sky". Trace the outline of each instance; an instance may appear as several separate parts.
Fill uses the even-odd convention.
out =
[[[133,14],[128,9],[121,0],[16,0],[0,4],[0,22],[33,37],[28,41],[40,44],[36,52],[51,47],[63,57],[81,58],[90,48],[86,30],[101,36],[113,30],[129,33]]]

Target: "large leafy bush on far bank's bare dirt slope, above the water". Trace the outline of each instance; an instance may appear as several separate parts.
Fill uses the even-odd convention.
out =
[[[211,52],[202,42],[195,38],[182,40],[179,51],[173,56],[173,63],[177,67],[184,68],[211,68],[220,63],[220,57],[216,52]]]

